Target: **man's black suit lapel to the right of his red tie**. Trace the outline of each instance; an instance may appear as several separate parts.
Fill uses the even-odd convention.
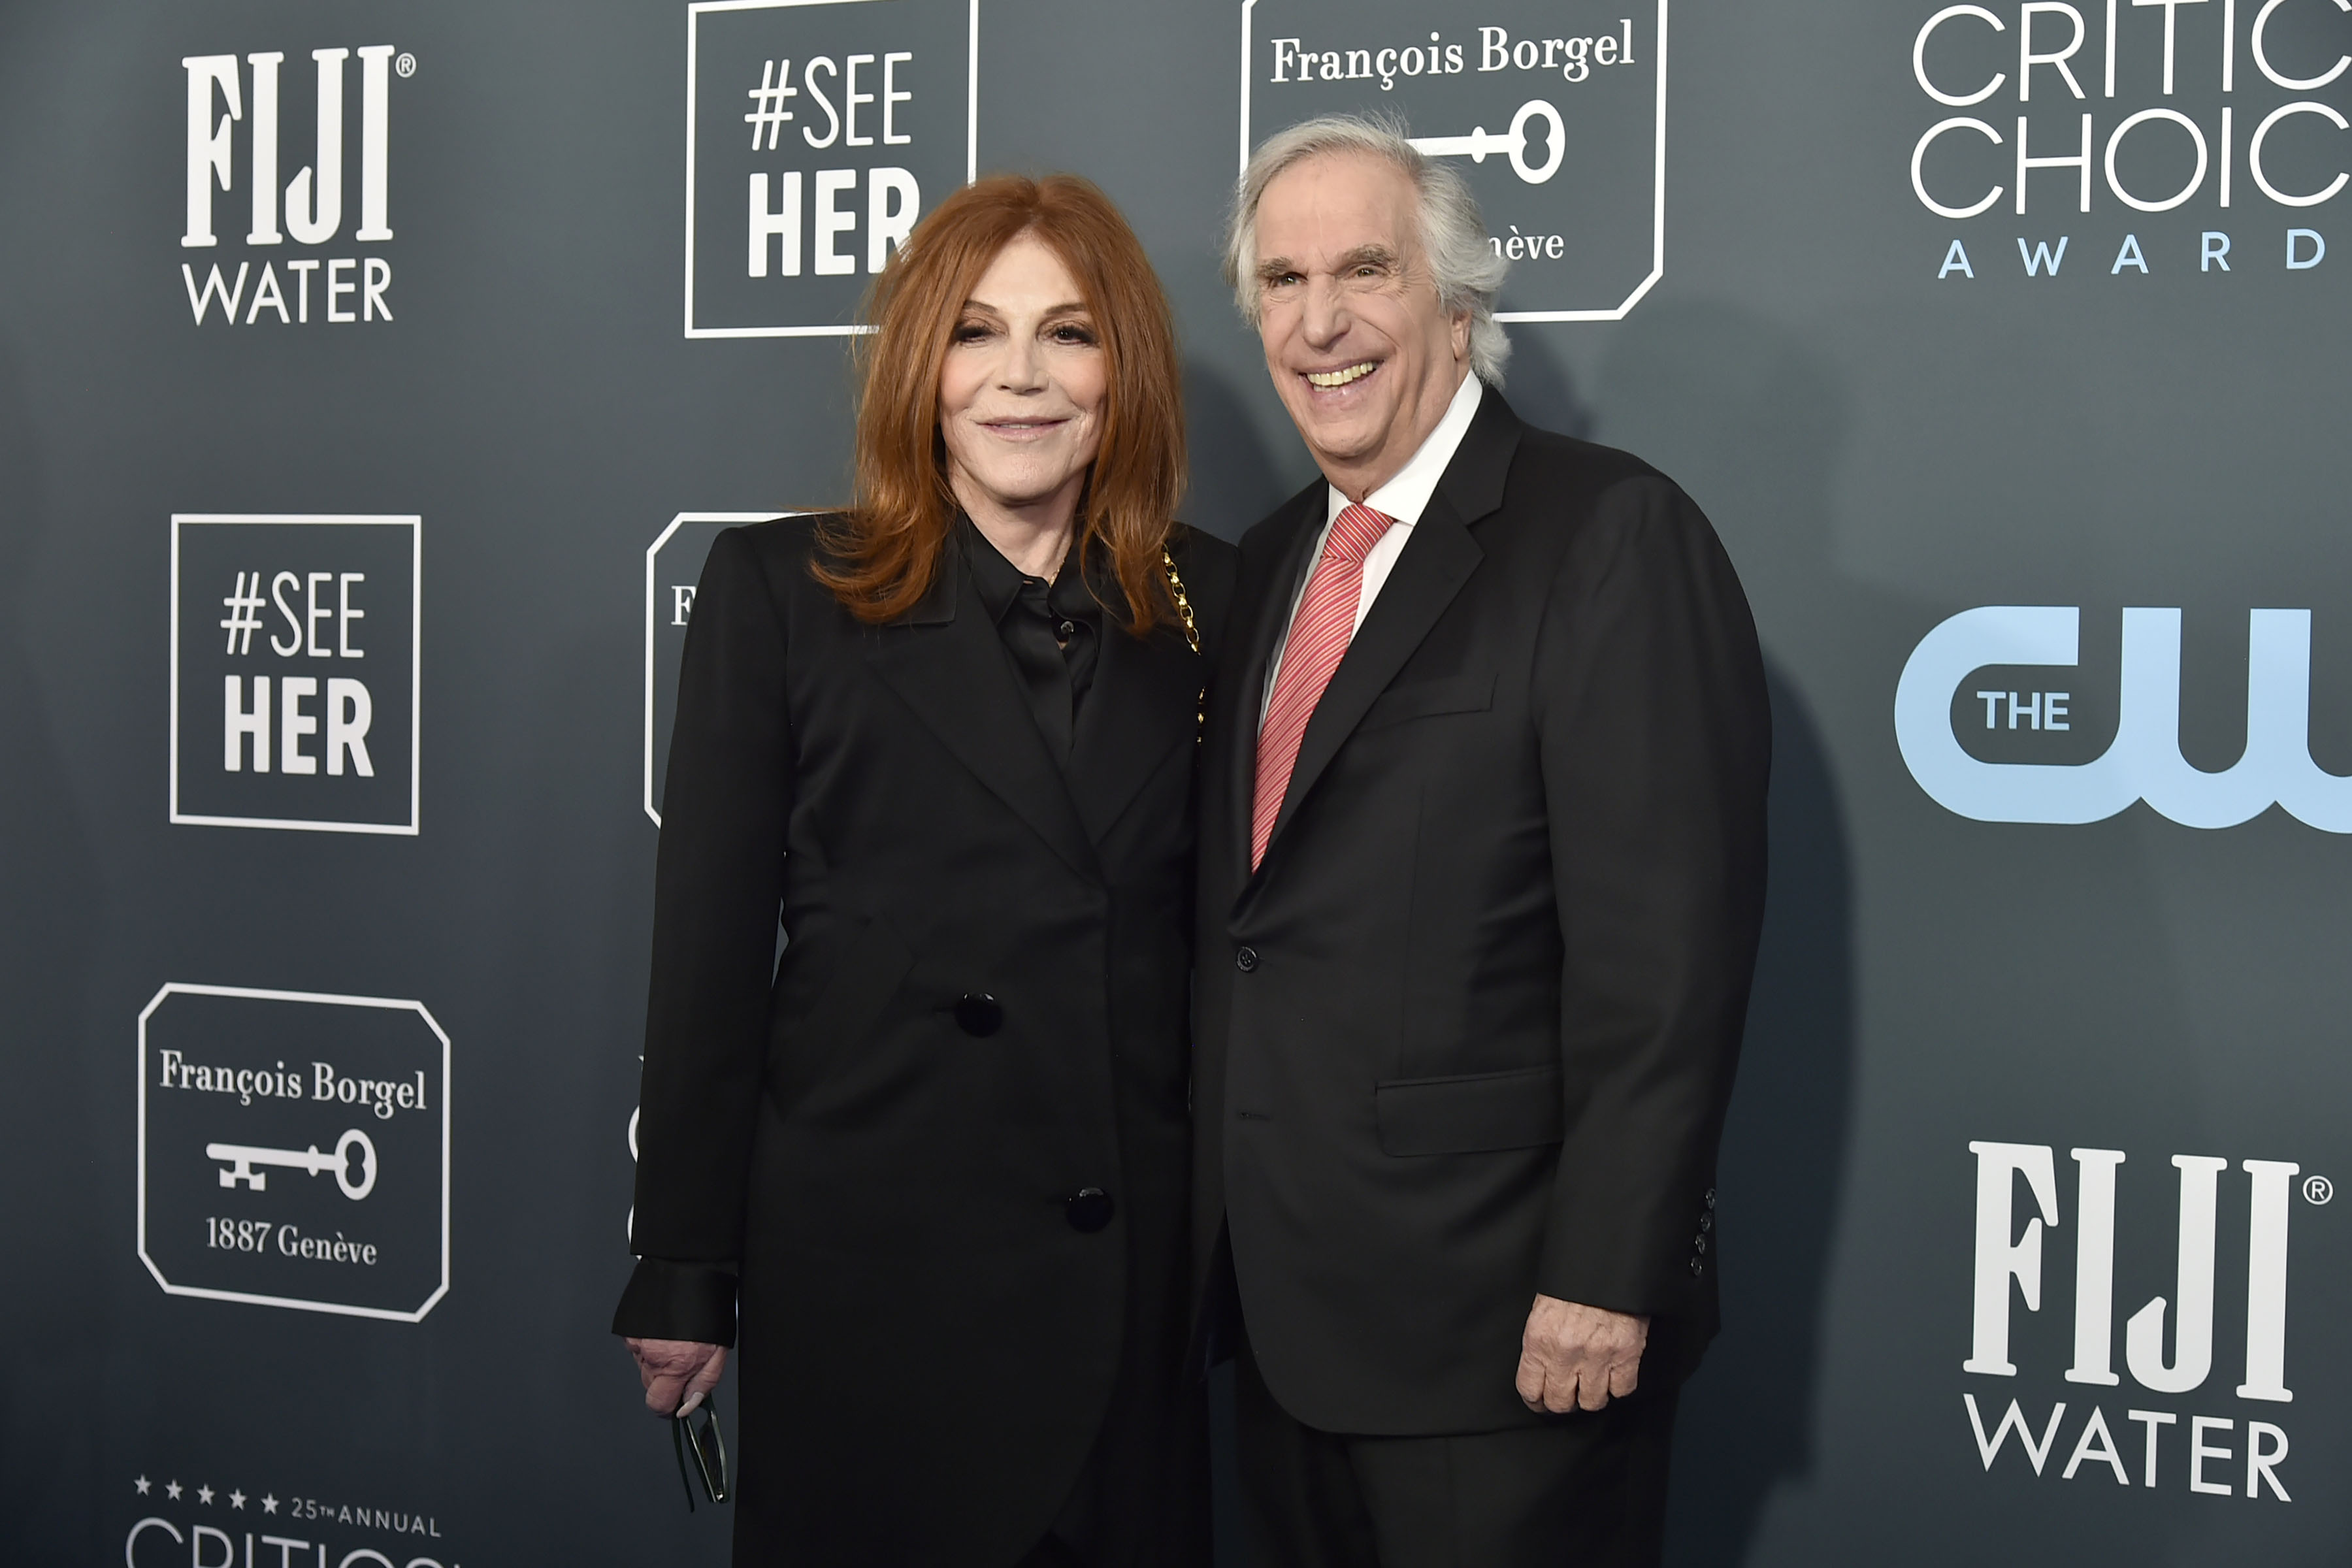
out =
[[[1479,395],[1477,416],[1463,433],[1461,447],[1454,449],[1454,461],[1437,480],[1430,505],[1414,524],[1404,555],[1397,557],[1388,583],[1381,585],[1381,597],[1371,602],[1364,625],[1348,642],[1348,654],[1338,661],[1322,701],[1315,703],[1308,731],[1298,741],[1289,790],[1282,795],[1282,813],[1265,844],[1268,863],[1275,858],[1282,830],[1298,816],[1301,802],[1331,766],[1338,748],[1355,733],[1364,710],[1388,689],[1388,682],[1437,625],[1437,616],[1486,559],[1486,552],[1470,536],[1470,524],[1503,503],[1503,480],[1517,447],[1519,416],[1510,411],[1501,393],[1486,388]]]

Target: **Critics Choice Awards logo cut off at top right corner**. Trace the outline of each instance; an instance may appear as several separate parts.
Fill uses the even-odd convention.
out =
[[[1912,195],[1962,223],[1933,242],[1938,280],[2326,261],[2317,223],[2352,183],[2352,14],[2336,0],[1945,5],[1907,63]]]

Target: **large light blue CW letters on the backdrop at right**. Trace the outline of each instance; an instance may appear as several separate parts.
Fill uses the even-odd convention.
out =
[[[1978,762],[1952,733],[1952,693],[1987,665],[2077,663],[2082,611],[1964,609],[1929,632],[1896,684],[1896,743],[1929,797],[1980,823],[2096,823],[2145,799],[2183,827],[2234,827],[2272,804],[2321,832],[2352,832],[2352,778],[2312,762],[2312,611],[2256,609],[2246,625],[2246,750],[2206,773],[2180,755],[2180,611],[2124,611],[2114,743],[2096,762]],[[1987,698],[1987,715],[1994,712]],[[2053,693],[2065,696],[2065,693]],[[2011,726],[2016,696],[2011,693]],[[2034,710],[2023,710],[2042,726]],[[1990,722],[1990,719],[1987,719]],[[2053,724],[2063,729],[2065,724]]]

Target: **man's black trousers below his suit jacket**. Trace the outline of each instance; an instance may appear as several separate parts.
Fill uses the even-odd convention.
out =
[[[1510,1375],[1501,1368],[1498,1375]],[[1256,1568],[1653,1568],[1675,1387],[1456,1436],[1298,1422],[1237,1345],[1242,1530]]]

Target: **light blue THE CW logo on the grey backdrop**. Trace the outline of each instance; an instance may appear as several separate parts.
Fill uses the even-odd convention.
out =
[[[2180,611],[2122,621],[2122,658],[2096,679],[2082,679],[2077,607],[1987,604],[1931,630],[1896,682],[1896,743],[1919,788],[1980,823],[2098,823],[2145,799],[2183,827],[2281,806],[2352,832],[2352,778],[2312,759],[2312,611],[2246,614],[2246,663],[2220,672],[2244,691],[2244,738],[2197,752],[2220,750],[2218,769],[2183,750]]]

